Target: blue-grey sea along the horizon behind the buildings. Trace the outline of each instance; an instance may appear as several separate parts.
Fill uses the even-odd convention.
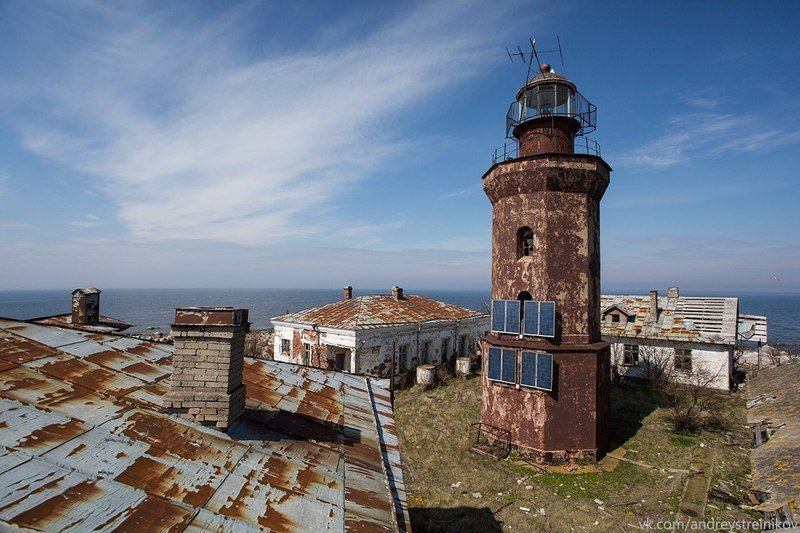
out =
[[[354,296],[381,294],[384,290],[354,290]],[[647,290],[609,289],[608,294],[647,294]],[[451,304],[488,312],[489,291],[406,290]],[[767,317],[769,343],[800,352],[800,294],[702,294],[681,291],[682,296],[735,296],[739,312]],[[271,327],[270,318],[325,305],[342,297],[341,289],[103,289],[100,312],[135,324],[131,333],[169,332],[175,308],[232,306],[250,310],[254,329]],[[70,312],[71,289],[0,291],[0,317],[27,320]]]

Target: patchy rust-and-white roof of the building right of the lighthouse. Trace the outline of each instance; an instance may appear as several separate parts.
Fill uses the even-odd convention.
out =
[[[613,307],[623,310],[628,320],[605,320],[606,312]],[[604,294],[601,309],[604,337],[736,344],[737,298],[659,296],[656,321],[649,321],[648,317],[650,296]]]

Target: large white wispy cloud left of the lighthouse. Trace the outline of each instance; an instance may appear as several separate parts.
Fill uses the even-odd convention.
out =
[[[97,11],[36,84],[50,113],[28,117],[25,146],[101,176],[138,241],[240,244],[358,224],[333,200],[397,155],[391,117],[476,72],[502,16],[423,3],[358,42],[251,59],[235,17]]]

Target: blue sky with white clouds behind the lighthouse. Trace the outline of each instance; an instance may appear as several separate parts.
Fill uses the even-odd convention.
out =
[[[488,288],[505,47],[558,34],[604,289],[800,291],[800,4],[490,4],[0,2],[0,289]]]

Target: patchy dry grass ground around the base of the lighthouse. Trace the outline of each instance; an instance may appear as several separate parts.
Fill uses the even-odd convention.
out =
[[[741,430],[743,401],[737,396],[719,401],[721,420],[700,434],[684,434],[673,430],[659,393],[630,384],[615,387],[612,449],[623,446],[625,458],[664,470],[621,462],[611,472],[573,474],[542,472],[513,456],[497,462],[469,451],[475,438],[469,425],[479,418],[479,379],[398,391],[395,413],[414,530],[627,531],[639,520],[671,519],[689,476],[667,469],[688,470],[701,444],[717,458],[712,486],[744,497],[747,449],[726,445],[724,438]],[[709,503],[708,516],[748,517],[736,506]]]

